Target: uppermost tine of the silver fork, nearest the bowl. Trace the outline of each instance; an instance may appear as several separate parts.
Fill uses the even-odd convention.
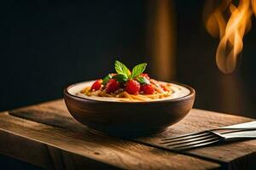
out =
[[[162,142],[160,144],[168,144],[168,145],[178,145],[178,144],[185,144],[185,143],[189,143],[189,142],[193,142],[193,141],[197,141],[197,140],[202,140],[202,139],[209,139],[212,137],[216,137],[216,134],[214,133],[206,133],[204,135],[200,135],[194,138],[189,138],[189,139],[181,139],[181,140],[177,140],[177,141],[166,141],[166,142]]]

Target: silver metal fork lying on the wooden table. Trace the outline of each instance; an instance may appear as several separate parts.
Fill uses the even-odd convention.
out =
[[[224,132],[218,132],[224,130]],[[255,136],[249,135],[230,135],[232,133],[241,133],[245,131],[255,131]],[[254,133],[253,133],[254,134]],[[214,144],[232,139],[256,138],[256,127],[236,128],[236,127],[220,127],[199,133],[189,133],[178,137],[160,139],[160,144],[172,150],[188,150],[195,147]]]

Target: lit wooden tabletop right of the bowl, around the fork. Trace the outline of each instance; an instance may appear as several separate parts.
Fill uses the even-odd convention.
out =
[[[160,139],[162,138],[251,121],[253,121],[253,119],[247,117],[193,109],[181,122],[169,127],[166,132],[135,140],[162,147],[159,145]],[[239,141],[220,145],[214,144],[207,147],[188,150],[186,153],[219,161],[230,169],[254,169],[256,166],[254,161],[248,161],[256,159],[256,140]]]

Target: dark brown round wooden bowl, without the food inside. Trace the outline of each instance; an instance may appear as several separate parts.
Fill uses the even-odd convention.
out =
[[[79,83],[77,83],[79,84]],[[190,93],[177,99],[150,102],[113,102],[84,99],[69,93],[73,84],[64,89],[68,111],[79,122],[102,133],[120,136],[141,136],[160,133],[179,122],[191,110],[195,90],[187,85]]]

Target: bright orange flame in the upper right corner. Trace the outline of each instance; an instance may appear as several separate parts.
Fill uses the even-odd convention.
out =
[[[206,10],[212,8],[208,1]],[[216,52],[216,63],[220,71],[228,74],[236,69],[237,57],[241,53],[242,38],[251,28],[251,15],[256,12],[256,0],[241,0],[236,6],[232,0],[224,0],[207,17],[207,31],[220,42]],[[225,20],[228,15],[229,20]]]

